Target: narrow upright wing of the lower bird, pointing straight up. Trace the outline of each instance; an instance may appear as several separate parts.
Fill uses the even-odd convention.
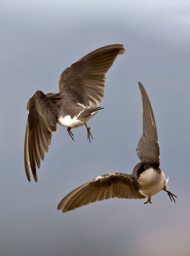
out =
[[[140,82],[138,82],[138,84],[142,95],[143,135],[136,146],[136,154],[141,161],[158,164],[159,166],[159,143],[157,140],[154,113],[145,88],[143,88]]]

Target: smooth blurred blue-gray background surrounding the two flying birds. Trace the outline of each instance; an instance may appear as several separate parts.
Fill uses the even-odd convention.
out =
[[[190,255],[190,1],[1,0],[1,255]],[[58,92],[64,68],[88,52],[124,44],[106,75],[105,109],[85,127],[65,127],[29,183],[24,170],[26,104]],[[112,199],[62,214],[69,191],[98,175],[131,173],[142,135],[141,81],[152,102],[161,169],[170,190],[143,200]]]

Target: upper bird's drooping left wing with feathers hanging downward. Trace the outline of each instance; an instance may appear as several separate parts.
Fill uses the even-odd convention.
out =
[[[34,180],[38,181],[36,165],[40,168],[40,159],[44,159],[44,152],[48,152],[52,132],[57,129],[54,99],[50,99],[43,92],[36,91],[27,104],[27,124],[24,142],[24,164],[27,179],[30,181],[30,166]]]

